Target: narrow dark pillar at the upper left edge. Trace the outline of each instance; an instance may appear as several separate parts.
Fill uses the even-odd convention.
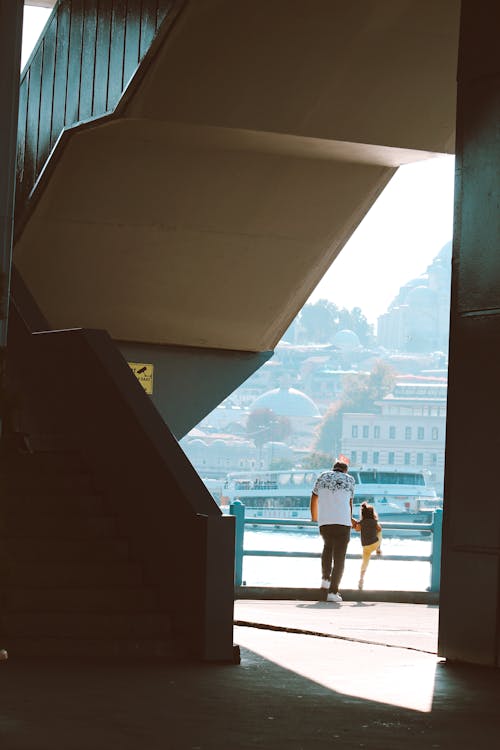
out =
[[[23,10],[23,0],[0,0],[0,348],[7,343]]]

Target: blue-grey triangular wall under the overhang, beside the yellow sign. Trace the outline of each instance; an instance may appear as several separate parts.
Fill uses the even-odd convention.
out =
[[[127,342],[117,346],[127,362],[154,365],[151,398],[178,440],[272,356]]]

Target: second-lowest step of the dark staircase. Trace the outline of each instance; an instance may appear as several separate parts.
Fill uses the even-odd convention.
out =
[[[0,638],[169,638],[166,614],[8,613],[0,615]]]

